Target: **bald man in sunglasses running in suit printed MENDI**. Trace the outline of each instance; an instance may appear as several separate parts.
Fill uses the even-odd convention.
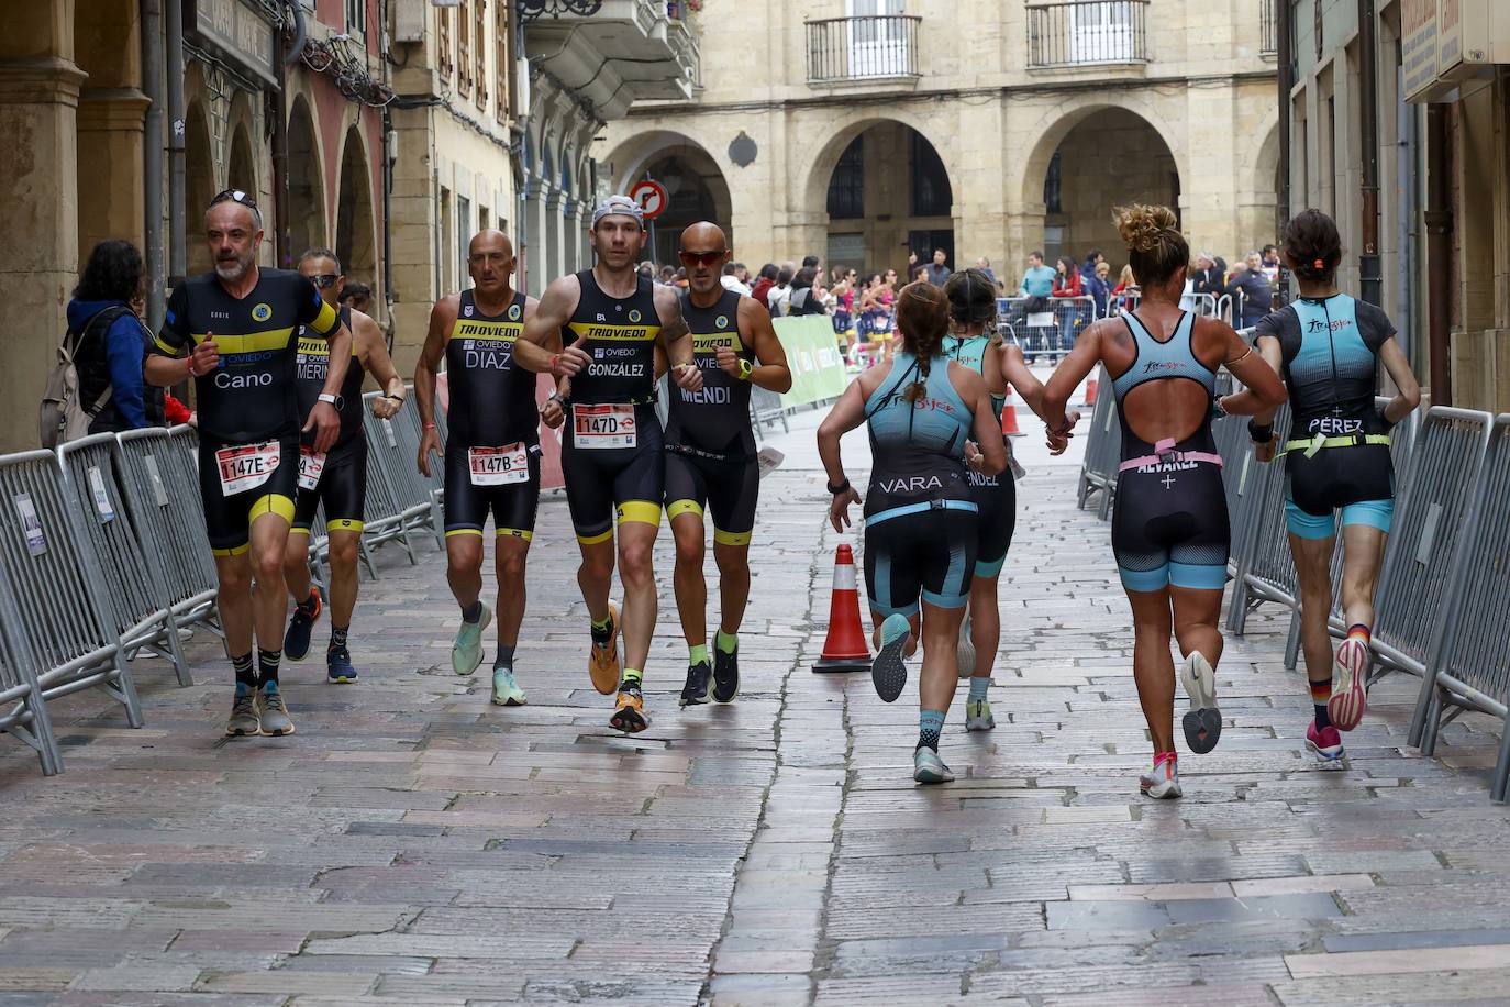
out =
[[[791,388],[787,352],[770,325],[770,311],[753,297],[726,290],[719,272],[729,260],[728,239],[716,223],[681,233],[681,264],[689,293],[681,314],[702,370],[702,388],[670,393],[666,423],[666,519],[676,539],[676,610],[690,649],[681,705],[732,702],[740,691],[738,631],[750,593],[750,531],[760,497],[750,385]],[[704,507],[713,512],[713,559],[719,565],[719,633],[708,661],[708,584],[702,578]]]

